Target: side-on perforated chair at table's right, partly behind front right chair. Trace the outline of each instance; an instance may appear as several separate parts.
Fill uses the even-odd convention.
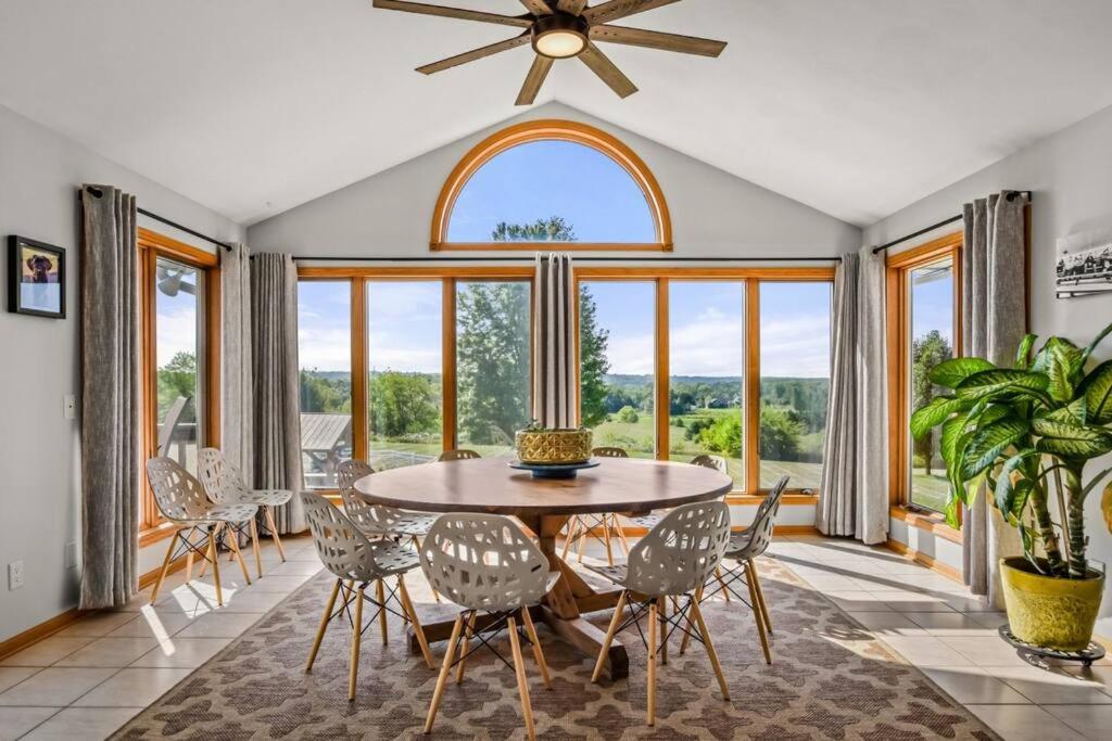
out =
[[[761,650],[764,652],[765,663],[772,663],[772,648],[768,637],[772,634],[772,618],[768,614],[768,603],[765,601],[764,590],[761,588],[761,578],[757,575],[757,568],[754,561],[768,550],[772,542],[773,527],[776,522],[776,513],[780,511],[780,502],[787,488],[788,477],[781,477],[776,485],[764,498],[757,508],[757,513],[753,518],[753,524],[729,535],[729,543],[726,545],[726,553],[723,555],[725,564],[724,574],[719,578],[717,589],[699,594],[699,600],[707,600],[718,592],[733,594],[746,607],[753,610],[753,619],[757,624],[757,637],[761,639]],[[731,567],[729,561],[737,565]],[[746,587],[748,599],[745,599],[736,589],[737,582]],[[687,648],[687,639],[679,647],[683,653]]]

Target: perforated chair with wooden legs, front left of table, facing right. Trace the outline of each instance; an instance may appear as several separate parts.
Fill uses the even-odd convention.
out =
[[[429,669],[436,669],[433,653],[429,651],[420,619],[414,609],[409,591],[406,589],[405,574],[417,568],[420,561],[413,550],[390,540],[370,540],[340,510],[334,507],[320,494],[310,491],[301,492],[305,505],[305,517],[312,532],[312,542],[317,554],[332,575],[336,583],[328,597],[325,612],[320,615],[317,635],[309,649],[309,660],[305,671],[312,671],[312,663],[320,651],[320,642],[332,619],[347,614],[355,603],[355,615],[351,618],[351,665],[348,672],[348,700],[355,700],[355,688],[359,677],[359,645],[363,633],[377,620],[381,623],[383,644],[387,643],[386,614],[393,613],[409,622],[417,637],[425,663]],[[387,580],[395,579],[394,589],[388,589]],[[376,595],[367,594],[367,587],[374,582]],[[344,604],[336,609],[336,599],[344,592]],[[375,614],[364,624],[363,605],[369,603],[375,608]]]

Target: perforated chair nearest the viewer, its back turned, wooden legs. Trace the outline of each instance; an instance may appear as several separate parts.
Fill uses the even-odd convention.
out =
[[[420,549],[420,564],[433,588],[463,610],[456,615],[440,664],[425,732],[433,731],[448,674],[456,667],[456,682],[464,679],[467,658],[486,648],[514,668],[522,714],[529,739],[535,738],[529,685],[522,658],[522,640],[533,647],[545,687],[552,689],[548,664],[537,640],[529,608],[548,593],[559,573],[548,570],[548,559],[509,518],[499,514],[443,514]],[[522,624],[517,620],[520,618]],[[493,639],[505,628],[512,660],[494,648]],[[519,631],[524,628],[524,635]],[[478,644],[471,645],[477,640]]]

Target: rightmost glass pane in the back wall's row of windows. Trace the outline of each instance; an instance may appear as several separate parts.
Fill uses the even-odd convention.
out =
[[[817,490],[831,369],[831,284],[761,283],[761,487]]]

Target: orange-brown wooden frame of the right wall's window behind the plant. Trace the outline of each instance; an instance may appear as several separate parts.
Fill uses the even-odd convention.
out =
[[[954,276],[953,352],[962,354],[962,247],[964,232],[955,231],[885,259],[885,320],[888,382],[888,503],[891,517],[911,527],[929,530],[961,542],[961,533],[945,524],[940,512],[911,501],[911,457],[907,425],[911,400],[907,373],[911,366],[911,296],[909,277],[916,268],[950,259]]]

